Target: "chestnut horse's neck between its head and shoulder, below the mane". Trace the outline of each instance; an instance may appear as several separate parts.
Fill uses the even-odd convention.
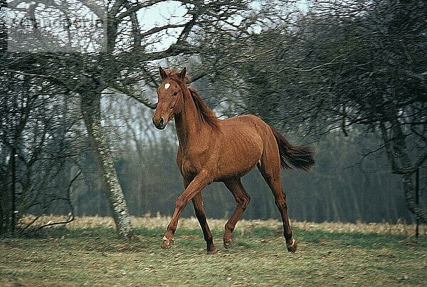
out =
[[[179,145],[186,148],[206,132],[206,123],[200,118],[193,98],[188,89],[182,89],[184,107],[179,115],[175,116],[176,135]]]

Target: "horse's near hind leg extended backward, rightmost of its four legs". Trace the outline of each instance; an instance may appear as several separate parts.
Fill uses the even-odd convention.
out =
[[[279,209],[283,222],[283,235],[285,236],[286,246],[288,251],[294,253],[297,250],[297,241],[292,238],[292,230],[290,229],[290,222],[288,217],[288,205],[286,204],[286,195],[282,189],[282,182],[280,180],[280,159],[269,159],[263,155],[260,165],[258,165],[265,182],[267,182],[271,191],[273,192],[275,204]]]

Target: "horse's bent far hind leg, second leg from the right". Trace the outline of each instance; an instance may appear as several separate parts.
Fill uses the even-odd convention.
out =
[[[243,188],[240,178],[229,179],[224,182],[224,184],[226,184],[226,187],[233,194],[234,199],[236,199],[236,209],[234,209],[233,214],[231,214],[230,219],[228,219],[226,223],[226,231],[223,236],[224,247],[229,248],[233,242],[231,233],[234,231],[238,219],[248,206],[251,197],[249,197],[248,193],[246,193],[246,190]]]

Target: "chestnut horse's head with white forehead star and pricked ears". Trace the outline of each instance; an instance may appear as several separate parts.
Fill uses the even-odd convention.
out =
[[[179,85],[180,81],[186,78],[186,68],[181,72],[169,72],[160,68],[160,76],[162,77],[162,85],[157,88],[157,108],[153,115],[153,123],[159,129],[163,130],[167,122],[172,120],[177,113],[181,112],[182,108],[182,90]]]

